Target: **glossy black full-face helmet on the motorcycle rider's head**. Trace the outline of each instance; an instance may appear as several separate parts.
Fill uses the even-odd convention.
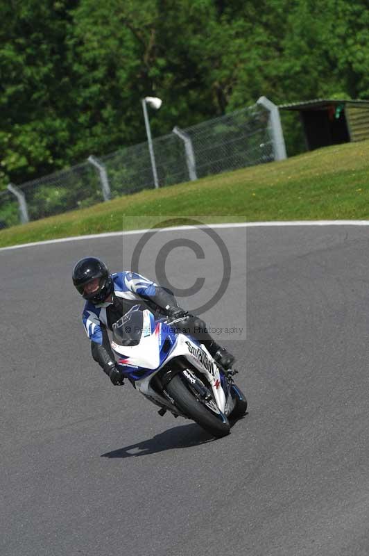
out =
[[[96,287],[89,291],[87,284],[96,280]],[[108,267],[94,256],[80,259],[73,269],[73,283],[80,295],[94,305],[102,303],[114,291],[113,279]],[[85,291],[86,289],[86,291]]]

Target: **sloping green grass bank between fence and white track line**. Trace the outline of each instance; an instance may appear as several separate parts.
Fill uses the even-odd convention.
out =
[[[151,217],[173,218],[173,223],[178,223],[175,218],[206,222],[369,220],[369,140],[146,190],[4,229],[0,247],[137,229],[147,227]]]

